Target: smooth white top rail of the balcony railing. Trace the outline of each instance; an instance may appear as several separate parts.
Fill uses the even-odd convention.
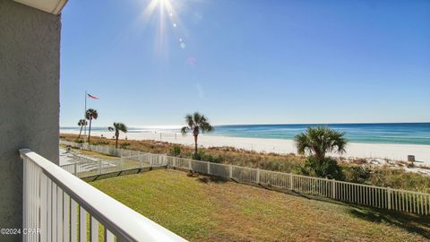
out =
[[[38,165],[47,177],[118,238],[128,241],[186,241],[39,154],[28,149],[22,149],[20,153],[22,158],[30,159]]]

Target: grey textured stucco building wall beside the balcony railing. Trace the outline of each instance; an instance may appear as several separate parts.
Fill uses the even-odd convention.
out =
[[[58,163],[60,30],[59,15],[0,0],[0,228],[22,227],[18,150]]]

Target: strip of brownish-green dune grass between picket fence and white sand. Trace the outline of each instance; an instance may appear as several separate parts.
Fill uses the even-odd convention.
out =
[[[60,138],[68,141],[76,141],[75,134],[61,134]],[[91,143],[102,145],[115,145],[115,140],[102,137],[91,137]],[[151,153],[165,153],[172,156],[192,158],[193,147],[163,143],[157,141],[120,140],[120,146],[134,151]],[[179,147],[180,154],[175,153],[174,147]],[[276,154],[255,151],[245,151],[232,147],[202,148],[202,160],[223,164],[232,164],[249,168],[268,169],[280,172],[297,173],[297,168],[303,165],[305,158],[295,154]],[[359,161],[359,160],[357,160]],[[392,188],[412,190],[430,193],[430,177],[407,172],[404,169],[392,169],[389,167],[372,167],[365,164],[357,164],[338,160],[340,167],[348,182],[361,183],[373,186],[391,186]]]

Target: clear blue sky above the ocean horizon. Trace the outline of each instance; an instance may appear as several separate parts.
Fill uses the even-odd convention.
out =
[[[171,1],[68,2],[61,125],[430,121],[430,1]]]

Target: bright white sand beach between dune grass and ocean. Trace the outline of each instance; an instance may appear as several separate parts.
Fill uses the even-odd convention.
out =
[[[62,134],[78,134],[70,130],[61,130]],[[112,137],[112,132],[91,132],[91,135]],[[193,145],[193,137],[190,135],[166,133],[128,133],[120,134],[120,138],[125,136],[130,140],[156,140],[168,143],[181,143]],[[200,146],[231,146],[239,149],[251,151],[266,151],[276,153],[296,153],[297,150],[292,140],[281,139],[261,139],[261,138],[239,138],[227,136],[213,136],[207,134],[199,135]],[[393,143],[348,143],[347,152],[342,154],[346,158],[366,158],[366,159],[388,159],[407,160],[408,155],[415,155],[417,165],[430,166],[430,145],[418,144],[393,144]]]

